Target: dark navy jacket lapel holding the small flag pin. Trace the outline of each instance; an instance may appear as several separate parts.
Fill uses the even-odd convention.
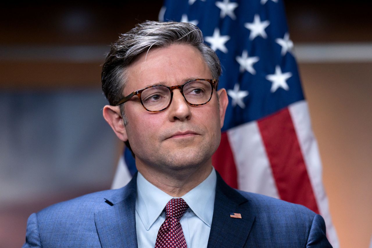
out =
[[[229,187],[217,173],[208,248],[244,246],[255,218],[250,212],[249,204],[246,198]],[[240,213],[241,219],[231,218],[230,213]]]

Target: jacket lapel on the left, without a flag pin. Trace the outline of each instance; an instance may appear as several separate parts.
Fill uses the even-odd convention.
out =
[[[99,240],[105,247],[137,248],[135,204],[137,174],[118,193],[106,200],[113,204],[94,214]]]

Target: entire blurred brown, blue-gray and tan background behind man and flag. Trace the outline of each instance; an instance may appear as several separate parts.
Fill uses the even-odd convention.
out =
[[[371,3],[285,0],[341,247],[372,235]],[[122,144],[102,118],[100,65],[161,0],[0,9],[0,247],[29,214],[110,188]]]

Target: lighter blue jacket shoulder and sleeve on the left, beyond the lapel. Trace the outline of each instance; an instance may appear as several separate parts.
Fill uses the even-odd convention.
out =
[[[94,214],[111,207],[105,198],[118,193],[106,190],[86,194],[32,214],[27,223],[26,243],[37,241],[43,247],[82,247],[80,242],[89,240],[92,246],[99,245]]]

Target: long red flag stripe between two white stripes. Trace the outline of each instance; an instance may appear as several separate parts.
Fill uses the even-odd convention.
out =
[[[257,123],[280,198],[319,213],[288,108]]]

